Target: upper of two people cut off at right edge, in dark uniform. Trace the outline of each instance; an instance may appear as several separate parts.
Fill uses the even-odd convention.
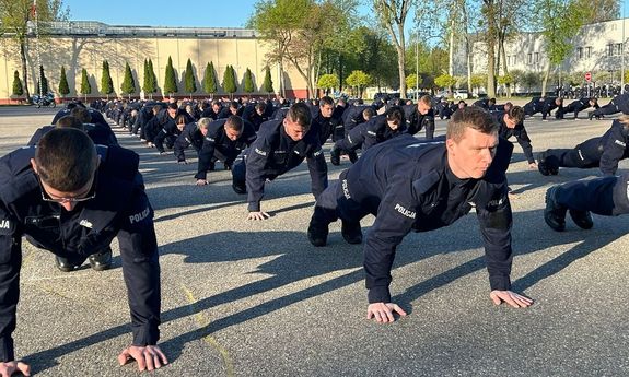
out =
[[[550,149],[538,156],[538,169],[545,176],[559,174],[559,167],[582,169],[599,167],[604,175],[614,175],[618,162],[629,157],[629,116],[614,120],[598,138],[587,139],[573,149]]]

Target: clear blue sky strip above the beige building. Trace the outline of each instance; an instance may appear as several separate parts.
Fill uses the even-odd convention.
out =
[[[72,21],[109,25],[244,27],[256,0],[63,0]]]

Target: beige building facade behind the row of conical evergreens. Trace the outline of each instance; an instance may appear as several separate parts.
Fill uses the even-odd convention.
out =
[[[228,66],[232,66],[236,72],[238,91],[235,95],[267,96],[261,91],[267,67],[266,55],[268,44],[255,36],[254,31],[242,28],[191,28],[191,27],[151,27],[151,26],[109,26],[97,22],[59,22],[53,23],[45,38],[36,38],[35,33],[30,33],[26,48],[28,89],[31,94],[35,92],[33,78],[37,78],[37,67],[44,67],[49,89],[55,96],[60,98],[59,80],[61,67],[66,69],[66,75],[70,86],[68,98],[82,97],[79,94],[81,86],[81,71],[88,71],[92,93],[86,96],[88,101],[104,98],[101,90],[101,76],[103,74],[103,61],[109,63],[109,72],[114,82],[114,94],[110,97],[123,96],[120,85],[125,76],[125,66],[128,62],[136,82],[136,93],[132,98],[149,97],[141,92],[144,75],[144,59],[151,59],[153,70],[158,76],[158,94],[154,98],[165,97],[162,92],[168,57],[173,60],[173,68],[178,83],[176,97],[209,98],[203,93],[202,79],[206,66],[212,62],[217,72],[219,92],[214,96],[225,96],[221,84],[223,73]],[[22,81],[22,64],[20,61],[19,46],[14,38],[4,36],[0,38],[0,104],[16,103],[24,97],[12,95],[14,71],[20,73]],[[197,91],[184,92],[184,76],[186,63],[190,59],[195,73]],[[307,96],[305,80],[290,67],[284,64],[284,71],[280,72],[277,64],[269,66],[275,93],[271,95],[284,95],[287,97],[304,98]],[[249,69],[254,76],[254,93],[244,93],[244,73]],[[35,80],[36,81],[36,80]],[[125,95],[125,97],[128,97]]]

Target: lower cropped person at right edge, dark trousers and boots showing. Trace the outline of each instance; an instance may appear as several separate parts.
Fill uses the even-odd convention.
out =
[[[592,213],[618,216],[629,213],[627,184],[629,174],[555,185],[546,191],[544,220],[554,231],[566,231],[566,212],[576,226],[590,229],[594,226]]]

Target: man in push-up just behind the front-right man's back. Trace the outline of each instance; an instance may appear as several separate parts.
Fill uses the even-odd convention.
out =
[[[413,106],[415,107],[415,106]],[[365,115],[371,114],[365,109]],[[333,165],[340,164],[341,153],[346,153],[352,160],[358,149],[366,151],[371,146],[398,137],[406,132],[404,111],[398,106],[389,107],[385,114],[370,118],[368,121],[352,128],[345,139],[337,141],[331,150],[330,162]],[[358,157],[357,157],[358,160]],[[352,161],[352,163],[354,163]]]

